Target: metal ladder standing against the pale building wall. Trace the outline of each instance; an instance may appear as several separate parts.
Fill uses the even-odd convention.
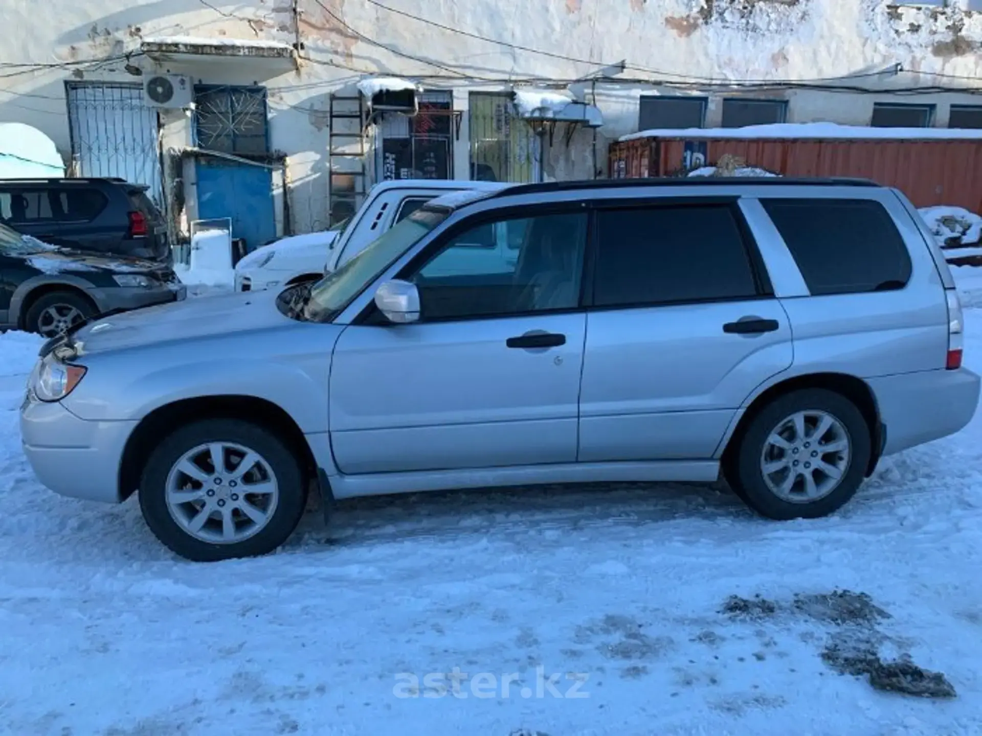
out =
[[[329,112],[328,203],[333,226],[355,214],[366,192],[364,101],[360,94],[332,94]]]

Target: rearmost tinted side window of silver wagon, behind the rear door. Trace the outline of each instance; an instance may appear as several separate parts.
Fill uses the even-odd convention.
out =
[[[910,255],[883,205],[869,199],[762,199],[812,294],[902,289]]]

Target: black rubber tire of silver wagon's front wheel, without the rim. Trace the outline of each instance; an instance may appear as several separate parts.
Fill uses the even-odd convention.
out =
[[[253,536],[231,544],[214,544],[191,536],[172,516],[166,498],[168,475],[175,463],[194,447],[207,443],[247,447],[268,463],[279,497],[266,526]],[[175,431],[153,450],[139,484],[139,507],[150,531],[172,552],[195,562],[214,562],[268,554],[297,529],[306,506],[307,484],[297,456],[275,435],[239,419],[209,419]]]

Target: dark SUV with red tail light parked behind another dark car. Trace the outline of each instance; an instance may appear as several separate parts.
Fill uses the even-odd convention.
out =
[[[167,224],[146,190],[122,179],[0,180],[0,222],[55,245],[170,264]]]

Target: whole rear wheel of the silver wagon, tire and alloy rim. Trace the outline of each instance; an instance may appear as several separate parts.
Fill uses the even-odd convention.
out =
[[[824,389],[776,398],[746,426],[730,468],[737,496],[772,519],[816,518],[862,484],[872,444],[862,412]]]

